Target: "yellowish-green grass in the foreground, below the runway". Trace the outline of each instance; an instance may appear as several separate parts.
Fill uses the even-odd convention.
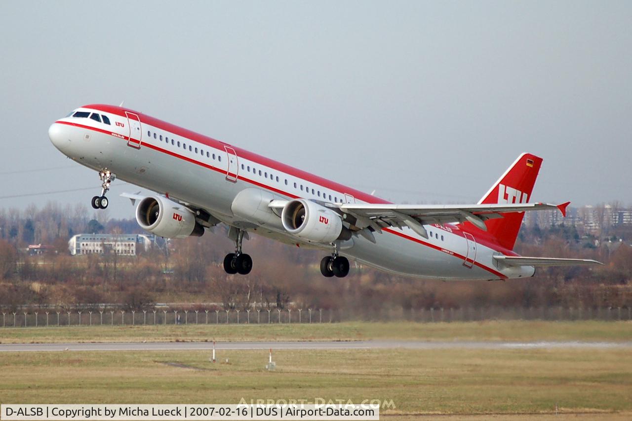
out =
[[[0,359],[1,403],[379,399],[382,415],[632,412],[632,353],[611,350],[26,352]],[[226,364],[225,359],[229,360]],[[389,418],[390,419],[390,418]],[[557,419],[557,418],[556,418]],[[622,418],[623,419],[623,418]]]

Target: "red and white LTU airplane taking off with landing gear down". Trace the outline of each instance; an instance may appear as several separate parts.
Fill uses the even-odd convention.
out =
[[[228,226],[234,252],[226,273],[253,267],[243,240],[259,234],[321,249],[326,277],[347,276],[349,259],[396,275],[442,280],[506,280],[537,266],[600,264],[590,259],[523,257],[513,251],[542,158],[522,153],[475,204],[397,205],[247,150],[114,105],[73,110],[49,128],[61,153],[99,173],[105,209],[114,179],[154,191],[123,193],[140,227],[160,237],[200,236]]]

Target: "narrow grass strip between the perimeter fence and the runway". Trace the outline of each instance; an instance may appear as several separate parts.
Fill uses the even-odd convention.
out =
[[[317,340],[631,341],[632,322],[188,324],[0,328],[1,343]]]

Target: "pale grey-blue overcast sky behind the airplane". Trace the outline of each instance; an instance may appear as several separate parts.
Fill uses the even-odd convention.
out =
[[[4,208],[89,207],[47,129],[123,100],[391,201],[475,202],[529,151],[532,201],[632,205],[631,1],[2,1],[0,58]]]

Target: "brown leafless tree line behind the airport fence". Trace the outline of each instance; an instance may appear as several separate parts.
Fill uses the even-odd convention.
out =
[[[505,282],[442,282],[405,278],[352,262],[346,278],[324,278],[322,251],[286,246],[251,235],[244,249],[255,266],[248,276],[226,275],[233,250],[224,227],[202,237],[171,240],[137,256],[70,256],[68,239],[85,232],[140,233],[135,220],[90,216],[84,206],[49,203],[41,209],[0,210],[0,306],[59,309],[155,303],[213,303],[219,309],[347,309],[374,317],[392,309],[460,307],[629,307],[632,247],[624,228],[607,237],[575,227],[523,227],[516,251],[528,256],[592,258],[599,267],[540,268],[536,276]],[[47,244],[40,256],[28,244]],[[207,305],[205,308],[209,308]]]

